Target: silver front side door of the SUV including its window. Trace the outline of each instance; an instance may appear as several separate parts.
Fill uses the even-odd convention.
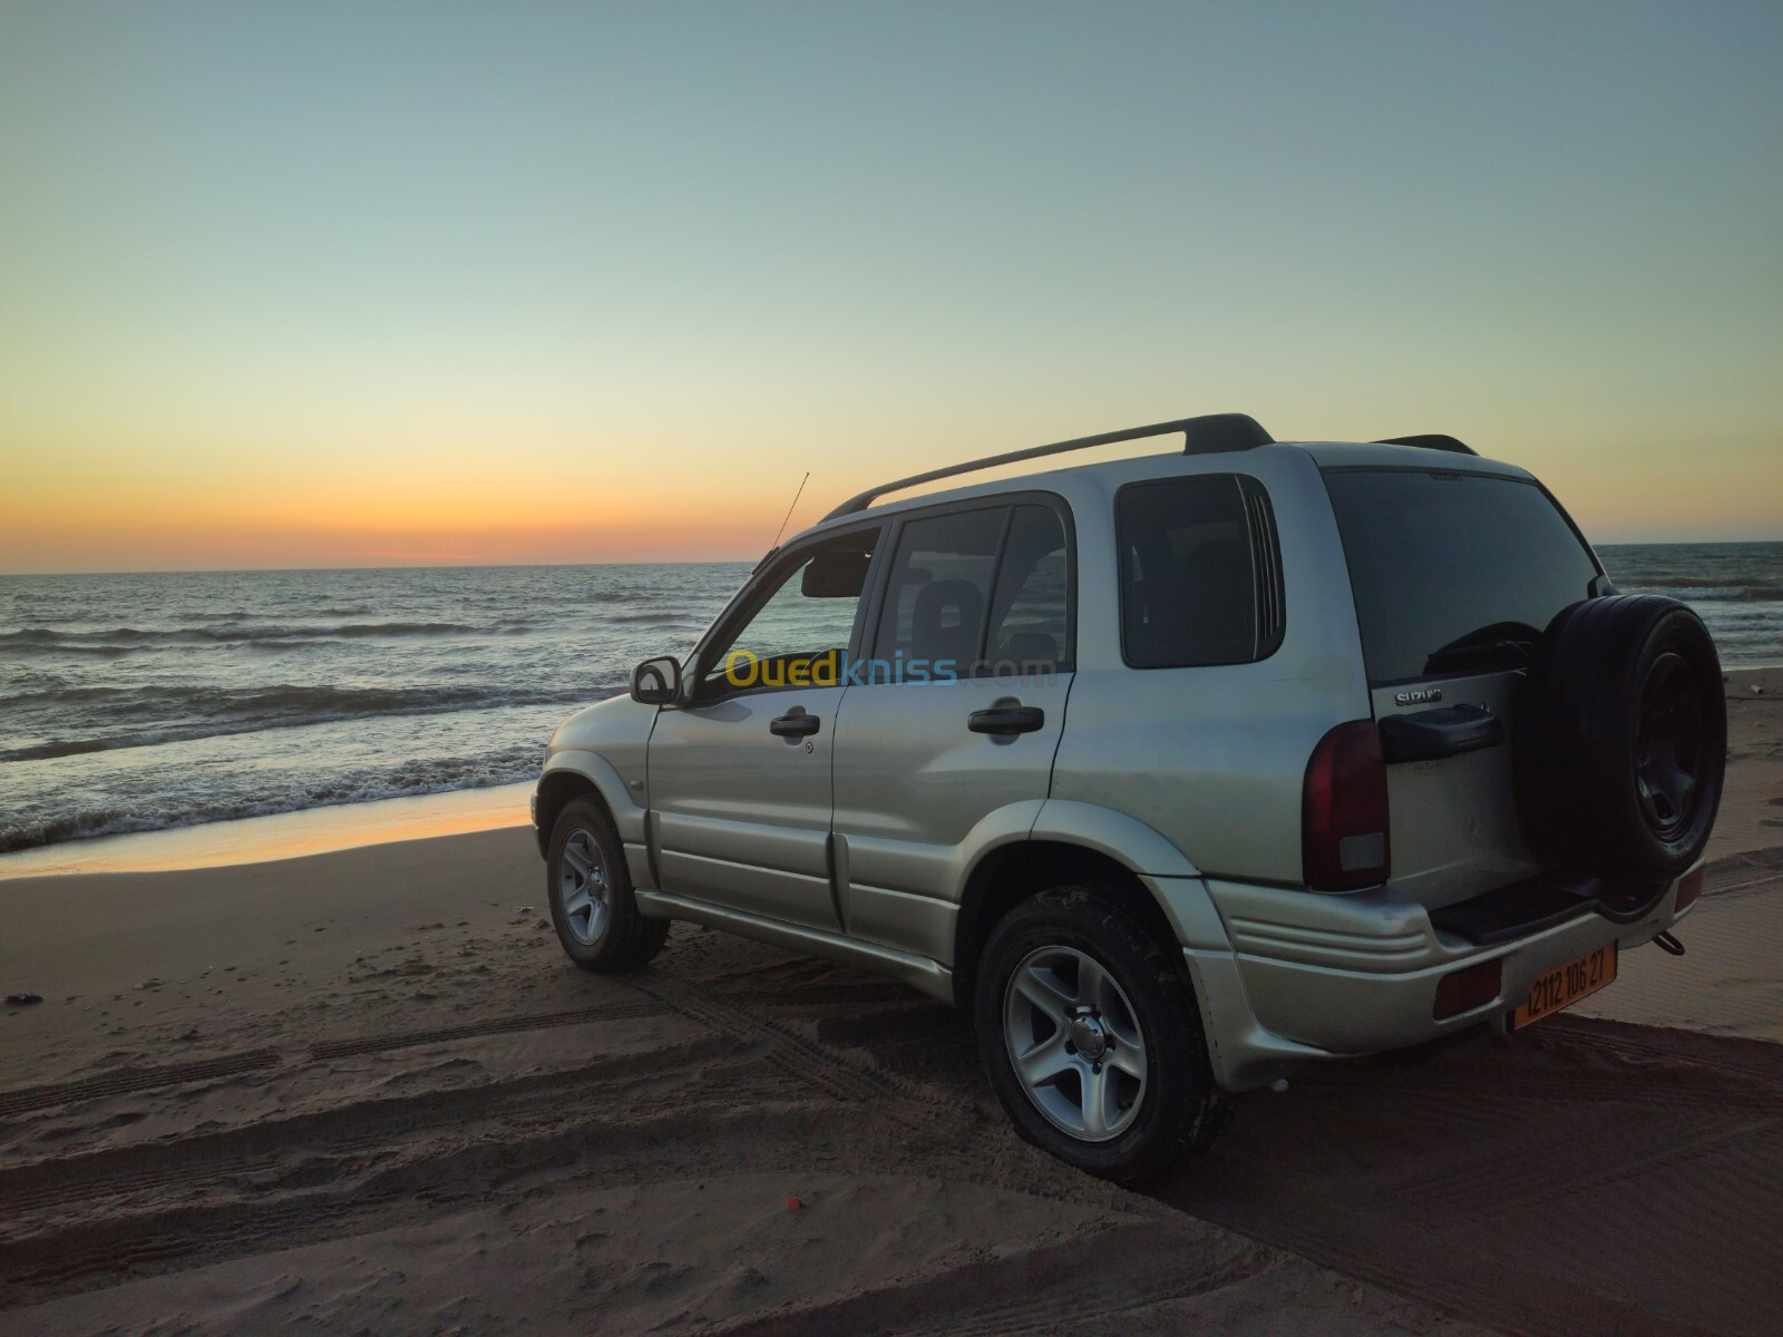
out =
[[[695,654],[686,704],[651,733],[661,890],[838,929],[831,756],[842,670],[877,528],[788,553]]]

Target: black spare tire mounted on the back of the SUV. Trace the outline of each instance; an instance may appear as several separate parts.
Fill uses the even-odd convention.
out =
[[[1676,599],[1560,610],[1530,667],[1516,740],[1524,833],[1544,863],[1599,877],[1644,915],[1708,845],[1728,759],[1721,660]]]

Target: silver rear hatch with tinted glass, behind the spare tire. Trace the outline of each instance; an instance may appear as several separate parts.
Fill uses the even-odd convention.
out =
[[[1375,718],[1410,720],[1400,756],[1503,738],[1426,759],[1389,745],[1389,886],[1439,909],[1537,875],[1512,792],[1517,686],[1549,619],[1601,588],[1598,560],[1539,483],[1471,460],[1327,467],[1325,487]]]

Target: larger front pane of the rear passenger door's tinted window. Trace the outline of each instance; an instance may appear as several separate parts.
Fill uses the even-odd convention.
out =
[[[931,515],[904,526],[879,617],[875,654],[972,672],[984,644],[997,545],[1007,506]]]

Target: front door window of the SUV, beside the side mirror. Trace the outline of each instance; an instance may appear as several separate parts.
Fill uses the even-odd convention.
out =
[[[704,656],[699,693],[834,686],[877,538],[877,529],[852,533],[792,565]]]

